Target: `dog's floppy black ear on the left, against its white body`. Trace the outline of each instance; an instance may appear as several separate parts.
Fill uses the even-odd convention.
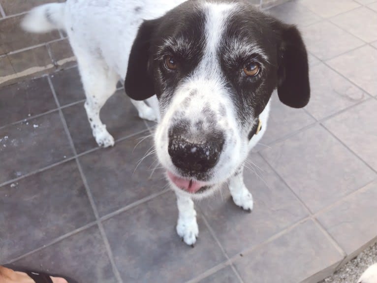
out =
[[[157,23],[158,20],[143,22],[129,54],[125,91],[134,100],[144,100],[155,94],[150,49]]]

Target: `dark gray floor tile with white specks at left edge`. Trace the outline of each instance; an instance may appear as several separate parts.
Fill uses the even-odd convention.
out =
[[[0,129],[0,184],[72,156],[59,112]]]

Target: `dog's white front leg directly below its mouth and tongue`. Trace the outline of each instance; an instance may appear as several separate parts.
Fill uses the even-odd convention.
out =
[[[190,197],[179,192],[176,192],[176,196],[179,213],[177,233],[186,244],[193,247],[199,233],[194,202]]]

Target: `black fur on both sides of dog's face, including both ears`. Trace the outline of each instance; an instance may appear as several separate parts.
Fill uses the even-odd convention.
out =
[[[298,108],[308,103],[307,52],[295,27],[255,10],[248,1],[223,2],[237,2],[238,8],[227,19],[217,55],[223,84],[247,138],[253,119],[264,110],[274,89],[278,88],[279,98],[286,105]],[[157,94],[161,107],[166,108],[177,87],[195,71],[206,44],[206,16],[199,5],[198,1],[187,1],[141,26],[131,50],[125,81],[126,93],[131,98],[143,100]],[[255,48],[240,52],[238,46],[230,44],[232,42],[250,43]],[[165,66],[166,56],[174,58],[177,70]],[[255,77],[243,72],[248,63],[260,66]],[[211,69],[208,66],[209,76]],[[216,94],[211,95],[216,99]],[[206,109],[203,111],[205,115],[213,114]],[[220,115],[225,115],[221,109]]]

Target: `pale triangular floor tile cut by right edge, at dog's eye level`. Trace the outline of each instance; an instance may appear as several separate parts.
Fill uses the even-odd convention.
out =
[[[377,95],[377,50],[375,48],[363,46],[327,63],[369,94]]]

